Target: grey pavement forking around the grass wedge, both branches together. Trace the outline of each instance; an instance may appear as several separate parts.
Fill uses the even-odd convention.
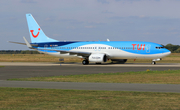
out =
[[[149,91],[177,92],[180,85],[174,84],[125,84],[125,83],[72,83],[72,82],[38,82],[6,81],[10,78],[44,77],[58,75],[97,74],[128,71],[177,70],[179,64],[53,64],[53,63],[3,63],[0,68],[0,87],[26,87],[76,90],[112,90],[112,91]]]

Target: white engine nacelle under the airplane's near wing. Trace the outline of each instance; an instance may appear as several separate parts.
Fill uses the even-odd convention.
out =
[[[106,62],[107,57],[106,54],[91,54],[89,56],[89,61],[90,62]]]

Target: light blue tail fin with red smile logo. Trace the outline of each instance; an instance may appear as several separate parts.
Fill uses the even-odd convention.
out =
[[[26,14],[26,19],[32,43],[57,42],[57,40],[51,39],[44,34],[31,14]]]

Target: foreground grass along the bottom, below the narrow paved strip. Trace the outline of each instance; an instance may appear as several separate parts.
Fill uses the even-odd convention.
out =
[[[0,88],[0,109],[171,110],[179,93]]]

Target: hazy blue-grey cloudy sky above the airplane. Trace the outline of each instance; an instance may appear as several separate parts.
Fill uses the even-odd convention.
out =
[[[48,37],[180,45],[180,0],[0,0],[0,50],[27,50],[26,13]]]

